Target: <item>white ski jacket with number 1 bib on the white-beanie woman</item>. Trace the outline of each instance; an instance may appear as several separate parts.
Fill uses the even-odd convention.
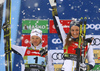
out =
[[[47,56],[41,56],[39,53],[39,50],[43,48],[42,44],[34,47],[33,45],[31,45],[31,47],[23,47],[23,46],[16,46],[16,45],[12,45],[12,49],[14,52],[17,52],[18,54],[20,54],[23,59],[24,59],[24,64],[22,64],[21,66],[21,71],[24,71],[25,68],[37,68],[40,70],[45,70],[45,71],[49,71],[49,68],[47,68],[47,64],[46,64],[46,59]],[[48,53],[48,55],[50,55],[50,53]],[[49,56],[50,59],[50,63],[48,64],[48,67],[53,68],[52,65],[52,58],[51,56]],[[53,68],[54,69],[54,68]]]

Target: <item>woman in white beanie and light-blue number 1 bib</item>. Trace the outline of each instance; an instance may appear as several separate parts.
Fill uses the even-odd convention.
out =
[[[31,47],[12,45],[12,50],[24,59],[21,71],[54,71],[51,54],[48,52],[47,57],[47,47],[42,47],[42,31],[33,29],[30,34],[30,42]],[[49,60],[48,67],[46,66],[47,59]]]

